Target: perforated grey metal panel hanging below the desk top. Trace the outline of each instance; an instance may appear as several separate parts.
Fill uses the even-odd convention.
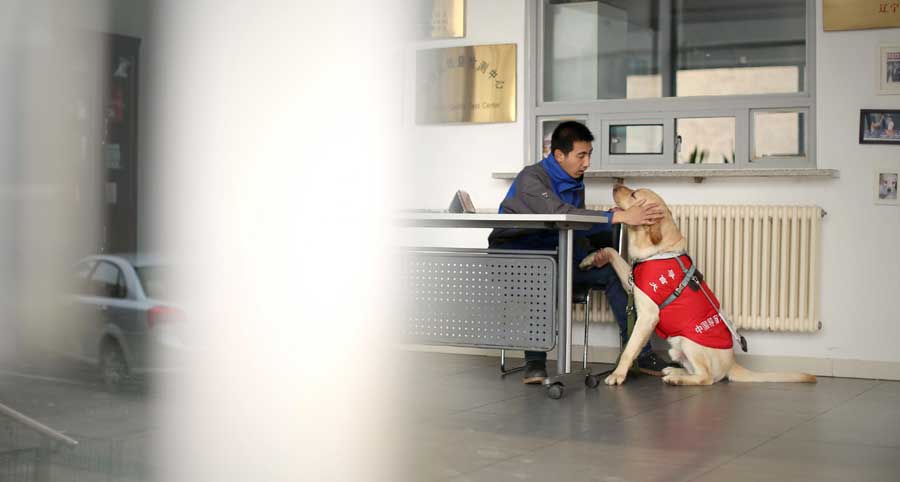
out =
[[[403,261],[410,343],[548,351],[556,260],[547,255],[413,252]]]

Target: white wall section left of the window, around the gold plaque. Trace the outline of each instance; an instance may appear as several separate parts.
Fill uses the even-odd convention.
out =
[[[444,209],[457,189],[472,195],[475,207],[497,208],[509,183],[491,178],[495,171],[515,171],[522,167],[523,83],[525,62],[525,3],[520,0],[468,0],[466,37],[421,42],[406,57],[406,124],[413,142],[415,182],[398,200],[407,207]],[[452,126],[415,125],[415,49],[459,45],[515,43],[517,85],[516,122],[459,124]],[[402,197],[403,194],[407,196]],[[424,231],[424,233],[423,233]],[[485,230],[451,233],[444,230],[409,230],[410,243],[441,246],[487,246]]]

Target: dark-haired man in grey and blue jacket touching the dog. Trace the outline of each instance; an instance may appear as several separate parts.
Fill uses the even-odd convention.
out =
[[[541,162],[527,166],[516,176],[506,198],[500,204],[500,213],[508,214],[586,214],[606,216],[608,223],[597,224],[586,231],[575,231],[572,246],[573,266],[591,251],[588,236],[600,231],[610,231],[613,223],[633,226],[653,224],[662,219],[663,208],[657,204],[635,205],[628,210],[593,211],[584,208],[584,172],[591,165],[594,148],[591,131],[578,122],[563,122],[553,131],[550,154]],[[559,243],[556,231],[541,229],[496,228],[488,237],[488,245],[496,249],[553,250]],[[619,334],[624,340],[627,333],[625,307],[628,296],[619,278],[609,266],[606,256],[598,253],[589,270],[574,270],[572,283],[605,290]],[[525,352],[523,383],[541,383],[547,378],[547,354]],[[666,364],[650,350],[650,343],[643,348],[637,360],[638,368],[655,376],[662,376]]]

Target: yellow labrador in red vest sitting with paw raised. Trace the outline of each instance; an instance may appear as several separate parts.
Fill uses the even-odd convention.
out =
[[[653,191],[631,190],[622,185],[613,188],[613,198],[621,209],[628,209],[638,202],[666,206]],[[607,385],[625,382],[629,367],[654,330],[668,339],[669,356],[684,367],[663,370],[663,381],[671,385],[710,385],[726,376],[734,382],[816,381],[816,377],[806,373],[752,372],[735,362],[731,333],[716,310],[719,302],[715,295],[702,280],[700,283],[686,281],[694,273],[690,258],[684,254],[679,256],[679,253],[686,253],[687,241],[675,225],[668,207],[662,221],[649,226],[626,226],[626,229],[629,255],[648,261],[636,264],[632,272],[632,266],[614,249],[603,250],[622,280],[622,286],[626,290],[633,289],[638,315],[634,333],[619,364],[606,378]],[[678,287],[682,289],[673,296]],[[662,304],[665,308],[661,311]]]

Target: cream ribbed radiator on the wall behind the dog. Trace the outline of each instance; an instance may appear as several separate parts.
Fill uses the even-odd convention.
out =
[[[821,328],[817,206],[669,206],[688,254],[738,328],[811,332]],[[608,209],[591,206],[591,209]],[[613,321],[605,296],[591,320]],[[582,320],[576,307],[575,320]]]

